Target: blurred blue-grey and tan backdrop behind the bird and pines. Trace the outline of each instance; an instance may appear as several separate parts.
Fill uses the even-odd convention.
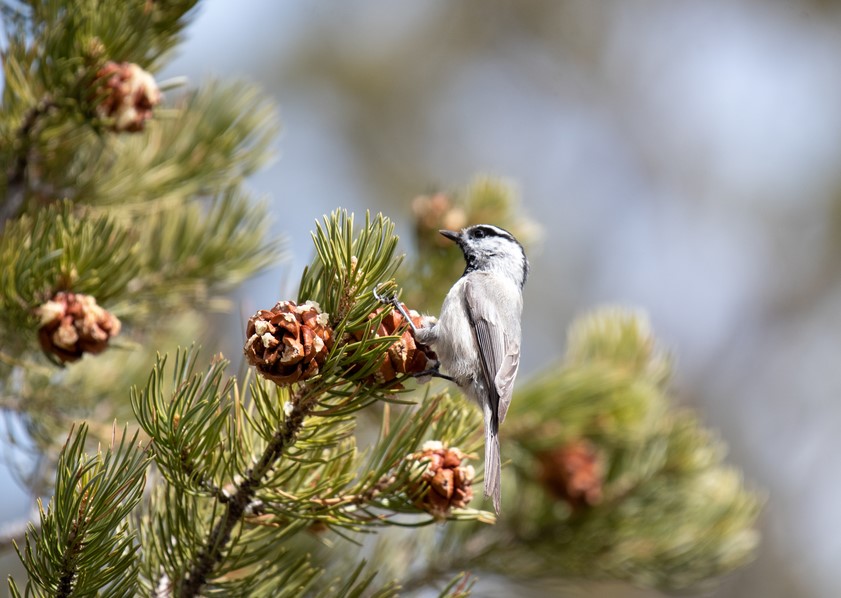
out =
[[[768,497],[756,562],[715,596],[841,592],[841,5],[208,0],[158,80],[182,75],[279,105],[278,160],[250,184],[291,257],[243,312],[290,293],[322,214],[408,235],[415,195],[509,177],[543,226],[521,376],[574,315],[646,310],[675,393]],[[237,355],[241,319],[224,326]]]

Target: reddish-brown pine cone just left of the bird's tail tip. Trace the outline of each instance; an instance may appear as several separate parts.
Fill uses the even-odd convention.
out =
[[[409,490],[414,505],[436,519],[447,517],[451,509],[460,509],[473,500],[472,465],[462,466],[469,459],[455,447],[444,448],[438,440],[430,440],[423,449],[409,455],[408,459],[426,465],[426,470]]]

